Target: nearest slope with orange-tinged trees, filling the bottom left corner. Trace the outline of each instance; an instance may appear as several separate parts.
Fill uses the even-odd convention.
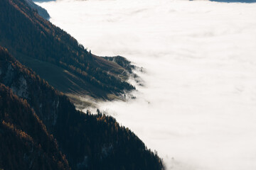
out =
[[[70,169],[28,103],[0,84],[0,168]]]

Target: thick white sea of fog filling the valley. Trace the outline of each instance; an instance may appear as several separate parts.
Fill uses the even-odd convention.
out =
[[[136,99],[98,107],[156,149],[168,170],[256,169],[256,4],[38,4],[95,55],[144,67],[144,86],[130,80]]]

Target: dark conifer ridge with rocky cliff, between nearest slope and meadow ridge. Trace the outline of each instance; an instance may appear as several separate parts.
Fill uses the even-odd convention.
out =
[[[22,110],[20,113],[6,110],[5,113],[18,114],[17,118],[27,112],[35,113],[38,121],[46,125],[45,130],[48,130],[48,134],[52,134],[55,138],[55,145],[58,145],[56,148],[65,155],[63,162],[65,163],[65,158],[68,160],[66,167],[69,164],[71,169],[163,169],[162,161],[157,154],[147,149],[131,130],[120,126],[111,116],[102,115],[100,111],[97,115],[92,115],[89,111],[87,113],[76,111],[68,97],[56,91],[31,69],[24,67],[2,47],[0,48],[0,83],[9,86],[18,95],[19,98],[15,97],[15,101],[22,101],[28,108],[33,108],[33,111],[28,109],[29,111]],[[4,98],[4,95],[1,95],[1,98]],[[12,104],[9,105],[11,106]],[[1,122],[6,121],[3,114],[0,119]],[[23,120],[22,123],[26,125],[30,122]],[[7,129],[1,126],[0,131],[7,132]],[[38,135],[41,133],[38,131]],[[13,141],[18,145],[20,140],[17,140],[19,138],[15,134]],[[1,141],[2,139],[4,138],[1,138]],[[17,149],[21,148],[23,147],[17,147]],[[16,154],[14,151],[9,152]],[[22,158],[11,157],[11,159]],[[0,167],[4,167],[4,164],[2,162]]]

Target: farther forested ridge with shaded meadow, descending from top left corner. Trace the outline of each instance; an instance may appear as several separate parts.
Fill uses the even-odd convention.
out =
[[[46,64],[41,64],[38,69],[31,61],[53,64],[54,67],[63,69],[63,72],[66,70],[73,74],[73,77],[85,81],[80,85],[78,80],[77,84],[80,88],[73,88],[78,94],[81,94],[80,89],[82,89],[89,91],[87,93],[89,95],[107,98],[107,94],[118,95],[123,91],[135,89],[117,76],[124,70],[121,66],[92,55],[75,38],[41,18],[37,11],[28,6],[26,0],[0,1],[0,45],[7,47],[21,63],[39,74],[46,69],[44,67]],[[50,83],[55,81],[48,77],[49,75],[46,75],[43,78]],[[57,89],[59,86],[64,86],[60,90],[70,92],[73,83],[66,82],[57,81],[53,85]]]

